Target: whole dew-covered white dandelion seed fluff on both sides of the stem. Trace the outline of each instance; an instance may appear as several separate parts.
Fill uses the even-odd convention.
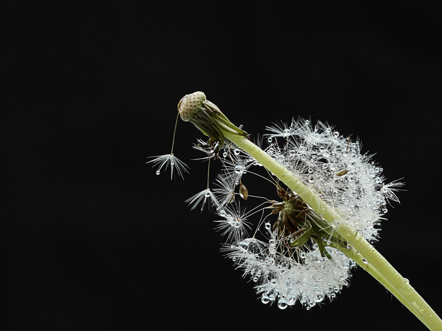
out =
[[[395,187],[402,183],[385,184],[382,168],[374,164],[370,155],[361,154],[359,141],[343,137],[327,124],[318,122],[312,126],[308,120],[299,118],[292,120],[290,126],[282,123],[267,129],[271,134],[268,134],[269,146],[265,151],[297,175],[367,240],[377,240],[375,226],[387,212],[388,200],[398,201]],[[203,159],[214,156],[212,146],[202,141],[194,147],[206,153]],[[249,169],[261,164],[229,141],[225,141],[219,156],[223,169],[217,175],[217,187],[213,191],[207,188],[187,202],[193,205],[192,209],[202,203],[201,211],[206,202],[216,208],[221,217],[216,221],[217,230],[227,237],[222,248],[226,257],[243,270],[244,277],[250,277],[263,303],[277,302],[278,307],[284,309],[300,302],[310,309],[325,299],[333,300],[336,293],[348,285],[354,261],[331,247],[334,243],[330,238],[316,237],[315,240],[322,240],[325,246],[322,250],[313,240],[290,247],[293,243],[290,236],[284,237],[270,223],[278,217],[270,214],[273,200],[265,199],[263,204],[245,213],[238,202],[237,186],[241,185],[244,175],[253,175]],[[274,198],[273,194],[274,191],[270,198]],[[261,221],[252,221],[251,216],[261,211]],[[306,217],[313,223],[315,217],[320,220],[321,215],[310,210]],[[324,222],[316,222],[316,228]],[[249,236],[247,230],[252,223],[256,230]],[[331,224],[330,228],[339,230],[339,224]],[[333,229],[326,231],[331,233]],[[335,247],[339,247],[339,243],[337,245]],[[347,245],[347,249],[351,247]]]

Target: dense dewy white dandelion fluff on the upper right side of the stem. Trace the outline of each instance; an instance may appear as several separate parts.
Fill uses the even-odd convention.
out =
[[[399,201],[395,187],[384,183],[382,167],[372,156],[361,154],[359,141],[343,137],[331,126],[298,118],[291,125],[274,124],[267,129],[266,152],[318,194],[340,216],[369,240],[377,240],[388,199]],[[335,224],[336,230],[339,224]]]

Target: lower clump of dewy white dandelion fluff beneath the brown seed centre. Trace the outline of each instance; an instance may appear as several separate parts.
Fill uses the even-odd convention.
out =
[[[270,223],[266,228],[271,234],[268,243],[255,238],[246,238],[222,249],[232,259],[237,268],[249,275],[255,284],[257,293],[262,295],[264,304],[278,303],[281,309],[299,301],[307,309],[323,302],[330,301],[340,293],[347,279],[351,277],[350,269],[355,263],[341,251],[327,247],[332,259],[321,257],[317,245],[311,251],[301,251],[297,258],[285,255],[281,251],[276,233],[272,233]],[[299,262],[297,262],[299,260]]]

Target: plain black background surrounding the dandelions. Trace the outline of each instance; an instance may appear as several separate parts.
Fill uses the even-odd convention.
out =
[[[176,105],[194,91],[252,138],[297,116],[360,137],[362,152],[376,152],[390,180],[406,182],[375,247],[440,313],[434,8],[402,1],[3,8],[7,329],[425,329],[360,268],[320,308],[260,302],[220,252],[218,217],[184,203],[206,187],[207,164],[190,160],[202,157],[191,148],[202,133],[179,119],[174,153],[191,167],[184,181],[145,164],[170,152]],[[212,167],[214,180],[219,162]],[[253,178],[247,186],[250,194],[263,188]]]

